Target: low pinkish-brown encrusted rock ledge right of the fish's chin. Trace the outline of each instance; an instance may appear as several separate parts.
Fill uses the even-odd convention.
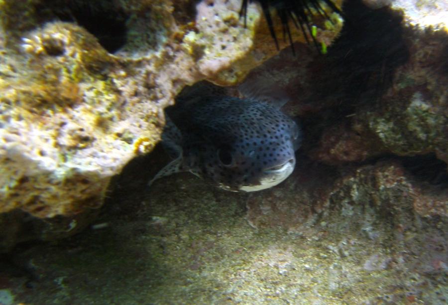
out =
[[[363,221],[355,211],[364,209],[371,209],[369,217],[378,219],[402,217],[405,212],[415,217],[448,216],[448,181],[423,181],[399,159],[348,168],[341,173],[304,158],[294,178],[281,188],[250,195],[249,223],[257,228],[281,226],[289,232],[302,232],[322,221],[347,222],[336,217],[353,217],[349,222],[355,225],[356,219]]]

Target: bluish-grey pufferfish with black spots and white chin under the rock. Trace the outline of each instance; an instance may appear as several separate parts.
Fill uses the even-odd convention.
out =
[[[183,171],[229,191],[258,191],[285,180],[301,143],[298,124],[278,106],[226,96],[213,86],[190,87],[165,110],[162,144],[173,160],[149,184]]]

